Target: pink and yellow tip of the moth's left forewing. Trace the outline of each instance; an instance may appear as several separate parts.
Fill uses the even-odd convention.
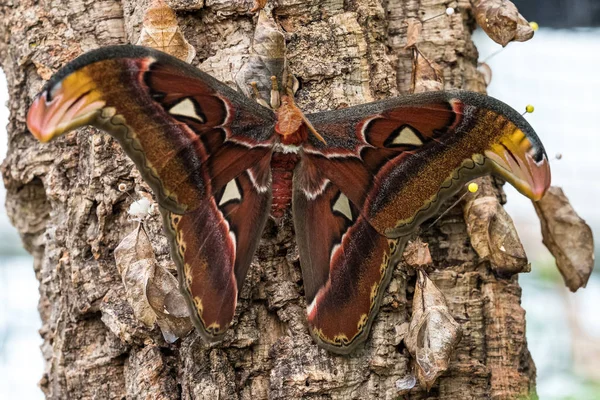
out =
[[[56,78],[48,82],[27,113],[27,127],[40,142],[91,123],[105,106],[85,68]]]

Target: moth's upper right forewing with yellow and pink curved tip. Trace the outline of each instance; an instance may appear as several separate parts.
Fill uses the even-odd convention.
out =
[[[308,116],[326,139],[306,157],[382,234],[399,236],[474,177],[493,172],[537,199],[544,149],[512,108],[469,92],[432,92]]]

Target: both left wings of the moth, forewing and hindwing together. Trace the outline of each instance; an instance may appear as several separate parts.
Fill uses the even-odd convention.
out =
[[[272,111],[164,53],[118,46],[65,66],[28,115],[41,141],[86,124],[154,191],[192,319],[218,339],[269,213]]]

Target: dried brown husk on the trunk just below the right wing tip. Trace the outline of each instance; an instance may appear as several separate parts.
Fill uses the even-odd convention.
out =
[[[469,195],[463,211],[473,249],[498,275],[527,270],[527,255],[512,218],[493,192],[482,189]]]

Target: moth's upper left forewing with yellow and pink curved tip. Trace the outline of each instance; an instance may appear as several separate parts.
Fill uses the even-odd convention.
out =
[[[111,134],[158,203],[195,210],[272,150],[275,117],[197,68],[140,46],[88,52],[35,99],[29,130],[42,142],[83,125]]]

